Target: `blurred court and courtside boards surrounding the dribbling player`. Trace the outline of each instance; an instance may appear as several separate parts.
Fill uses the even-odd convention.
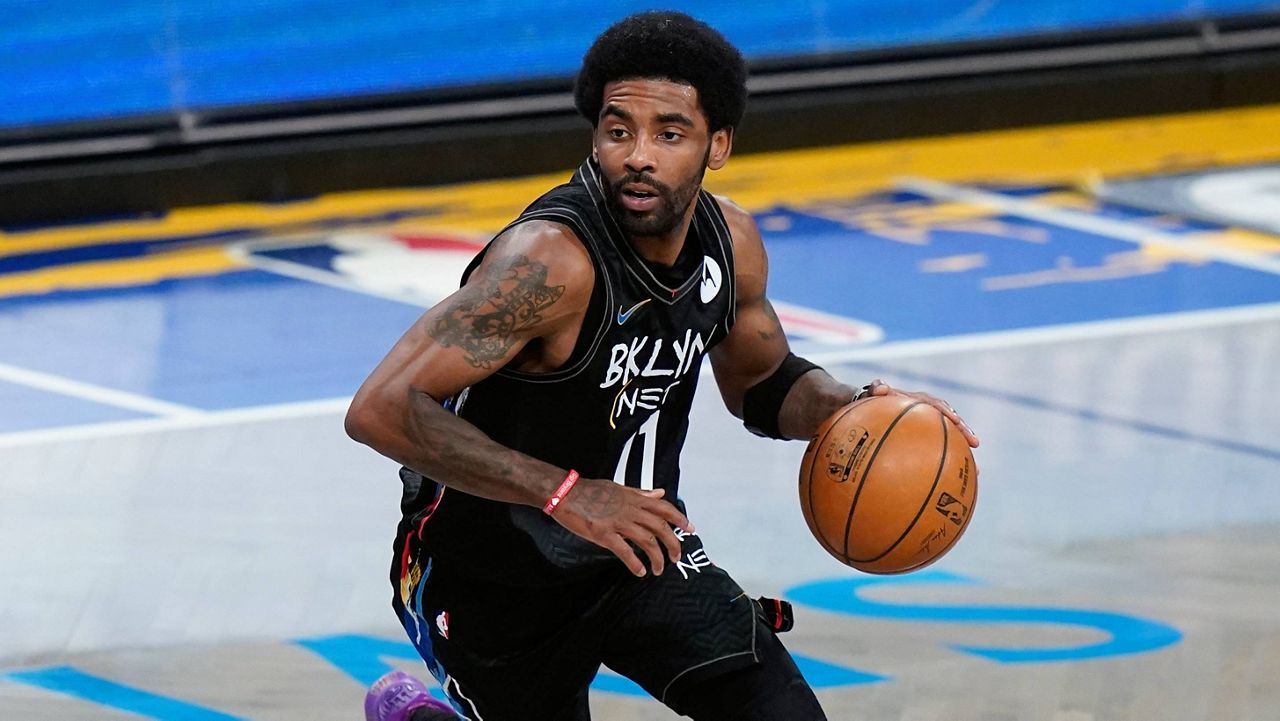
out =
[[[0,0],[0,720],[339,721],[425,676],[342,415],[586,156],[577,64],[654,8]],[[797,604],[831,718],[1280,718],[1280,3],[680,9],[750,63],[707,184],[792,347],[983,438],[965,539],[873,578],[809,537],[803,446],[700,393],[691,517]]]

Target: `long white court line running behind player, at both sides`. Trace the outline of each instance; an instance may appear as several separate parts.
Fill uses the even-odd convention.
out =
[[[943,353],[960,353],[1011,348],[1020,346],[1043,346],[1071,341],[1088,341],[1117,336],[1146,336],[1197,328],[1216,328],[1280,319],[1280,302],[1254,306],[1175,312],[1120,320],[1098,320],[1093,323],[1073,323],[1047,328],[1028,328],[1023,330],[1000,330],[993,333],[972,333],[951,338],[927,341],[901,341],[883,346],[860,346],[826,352],[808,353],[809,360],[835,365],[841,362],[873,361],[884,359],[924,357]],[[701,373],[709,374],[710,366],[704,365]],[[339,416],[347,411],[349,397],[303,401],[297,403],[278,403],[236,409],[227,411],[207,411],[200,415],[182,417],[156,417],[72,425],[41,430],[20,430],[0,434],[0,448],[59,443],[69,441],[88,441],[119,435],[140,435],[169,430],[215,428],[242,423],[315,417],[324,415]],[[338,419],[334,420],[338,423]]]

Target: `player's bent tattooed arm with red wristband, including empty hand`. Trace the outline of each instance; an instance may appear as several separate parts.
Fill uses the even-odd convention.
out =
[[[507,448],[440,407],[509,366],[553,370],[572,352],[590,301],[594,268],[563,225],[522,223],[497,238],[467,283],[426,311],[392,347],[352,400],[347,433],[449,488],[541,507],[564,479],[558,469]],[[662,492],[607,479],[579,480],[554,519],[616,553],[636,575],[680,557],[671,525],[691,530]],[[664,553],[666,551],[666,553]]]

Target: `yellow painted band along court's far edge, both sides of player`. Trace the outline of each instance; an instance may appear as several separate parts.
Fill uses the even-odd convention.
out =
[[[584,155],[586,149],[584,147]],[[950,182],[1071,183],[1280,160],[1280,105],[739,156],[708,175],[751,211],[886,190],[915,175]],[[291,204],[179,209],[150,219],[0,233],[0,257],[49,248],[216,233],[279,233],[334,219],[420,213],[393,227],[492,233],[568,170],[438,188],[343,192]]]

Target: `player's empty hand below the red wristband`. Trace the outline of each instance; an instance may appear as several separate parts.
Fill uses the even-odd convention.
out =
[[[552,516],[575,534],[613,552],[635,575],[645,575],[634,543],[660,575],[666,558],[680,561],[680,538],[672,526],[694,533],[694,525],[676,506],[663,501],[664,490],[637,490],[605,479],[584,478]],[[628,543],[630,542],[630,543]]]

